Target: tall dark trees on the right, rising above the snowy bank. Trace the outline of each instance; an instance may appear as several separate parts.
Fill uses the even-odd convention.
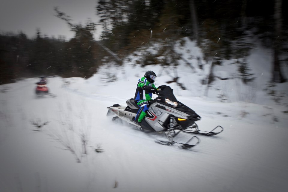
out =
[[[120,55],[161,40],[167,52],[177,39],[190,37],[207,60],[245,58],[251,46],[243,40],[250,30],[274,50],[271,81],[279,83],[286,81],[279,56],[287,51],[287,5],[283,0],[100,0],[97,14],[103,43]]]

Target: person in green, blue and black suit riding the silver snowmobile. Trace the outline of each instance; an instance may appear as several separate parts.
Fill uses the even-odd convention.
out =
[[[153,71],[146,71],[144,77],[138,80],[134,101],[140,107],[135,118],[136,123],[141,123],[149,109],[149,103],[152,99],[152,93],[156,94],[156,86],[154,84],[156,74]]]

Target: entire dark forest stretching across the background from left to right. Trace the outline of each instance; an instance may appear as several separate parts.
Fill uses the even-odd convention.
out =
[[[243,59],[253,46],[245,41],[247,35],[274,50],[271,81],[285,82],[281,65],[287,63],[287,6],[284,0],[98,0],[95,17],[99,23],[88,19],[84,25],[75,24],[61,7],[54,7],[55,16],[70,27],[74,38],[49,38],[41,29],[35,29],[34,38],[1,31],[0,84],[43,74],[88,78],[103,58],[121,65],[122,58],[153,43],[163,45],[157,55],[147,55],[137,64],[173,65],[177,60],[173,44],[183,37],[195,40],[205,59],[214,58],[215,64]],[[96,25],[103,29],[97,41]],[[170,59],[153,60],[160,55]],[[241,67],[247,66],[242,63]]]

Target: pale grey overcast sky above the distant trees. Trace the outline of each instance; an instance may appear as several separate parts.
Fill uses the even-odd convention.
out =
[[[98,23],[96,2],[98,0],[4,0],[0,5],[0,32],[22,31],[29,38],[35,37],[36,29],[42,35],[58,38],[64,35],[66,40],[74,36],[67,23],[55,16],[54,7],[71,16],[72,23],[85,24],[88,18]],[[98,28],[96,33],[100,33]],[[99,34],[95,34],[97,38]]]

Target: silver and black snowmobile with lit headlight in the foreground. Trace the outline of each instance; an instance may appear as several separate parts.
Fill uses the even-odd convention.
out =
[[[188,134],[200,134],[205,136],[213,136],[221,133],[223,128],[218,125],[211,131],[200,131],[195,121],[200,120],[200,116],[192,109],[177,101],[173,94],[173,89],[170,86],[164,86],[164,88],[157,89],[157,98],[149,102],[149,110],[143,121],[138,124],[137,114],[140,107],[134,102],[134,99],[128,99],[126,101],[127,106],[114,104],[111,107],[107,107],[107,116],[115,115],[113,121],[124,120],[130,124],[133,124],[140,128],[141,131],[165,131],[168,141],[155,140],[156,143],[162,145],[177,145],[181,149],[190,149],[199,143],[199,138],[196,136],[191,137],[186,143],[178,143],[173,141],[181,131]],[[214,130],[220,130],[213,132]],[[178,132],[176,133],[176,130]],[[196,144],[188,144],[192,140],[196,140]]]

